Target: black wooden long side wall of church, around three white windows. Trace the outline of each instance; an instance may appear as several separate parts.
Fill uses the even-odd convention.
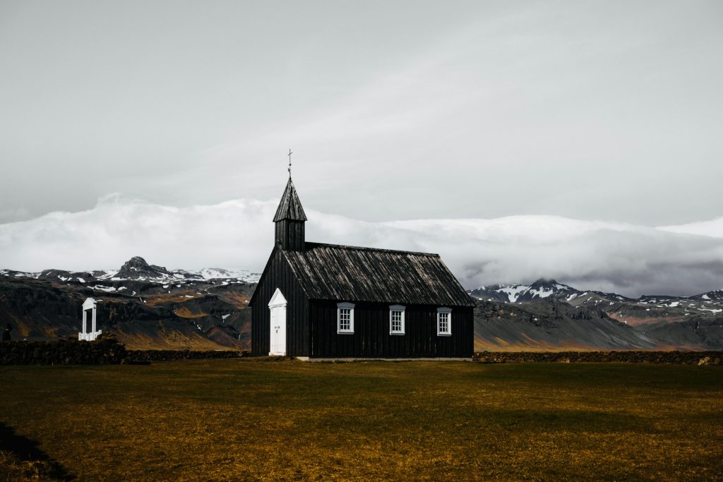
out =
[[[469,358],[474,348],[473,309],[453,308],[452,335],[437,336],[437,308],[406,305],[405,334],[389,334],[389,304],[354,306],[354,334],[336,332],[336,301],[309,302],[314,358]]]

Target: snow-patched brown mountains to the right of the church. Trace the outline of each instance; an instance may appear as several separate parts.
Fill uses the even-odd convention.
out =
[[[540,279],[468,293],[477,349],[723,349],[722,290],[628,298]]]

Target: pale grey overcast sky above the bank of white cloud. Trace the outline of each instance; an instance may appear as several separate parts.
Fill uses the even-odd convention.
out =
[[[0,0],[0,234],[273,202],[289,148],[307,210],[374,225],[716,220],[721,59],[718,0]]]

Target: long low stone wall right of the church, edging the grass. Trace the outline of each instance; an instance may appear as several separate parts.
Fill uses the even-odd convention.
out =
[[[474,353],[474,361],[482,363],[519,362],[624,362],[677,363],[685,365],[723,365],[723,351],[560,351],[560,352],[500,352]]]

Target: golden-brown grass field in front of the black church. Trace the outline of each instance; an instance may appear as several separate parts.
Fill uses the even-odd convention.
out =
[[[0,376],[7,480],[723,476],[719,366],[213,360]]]

